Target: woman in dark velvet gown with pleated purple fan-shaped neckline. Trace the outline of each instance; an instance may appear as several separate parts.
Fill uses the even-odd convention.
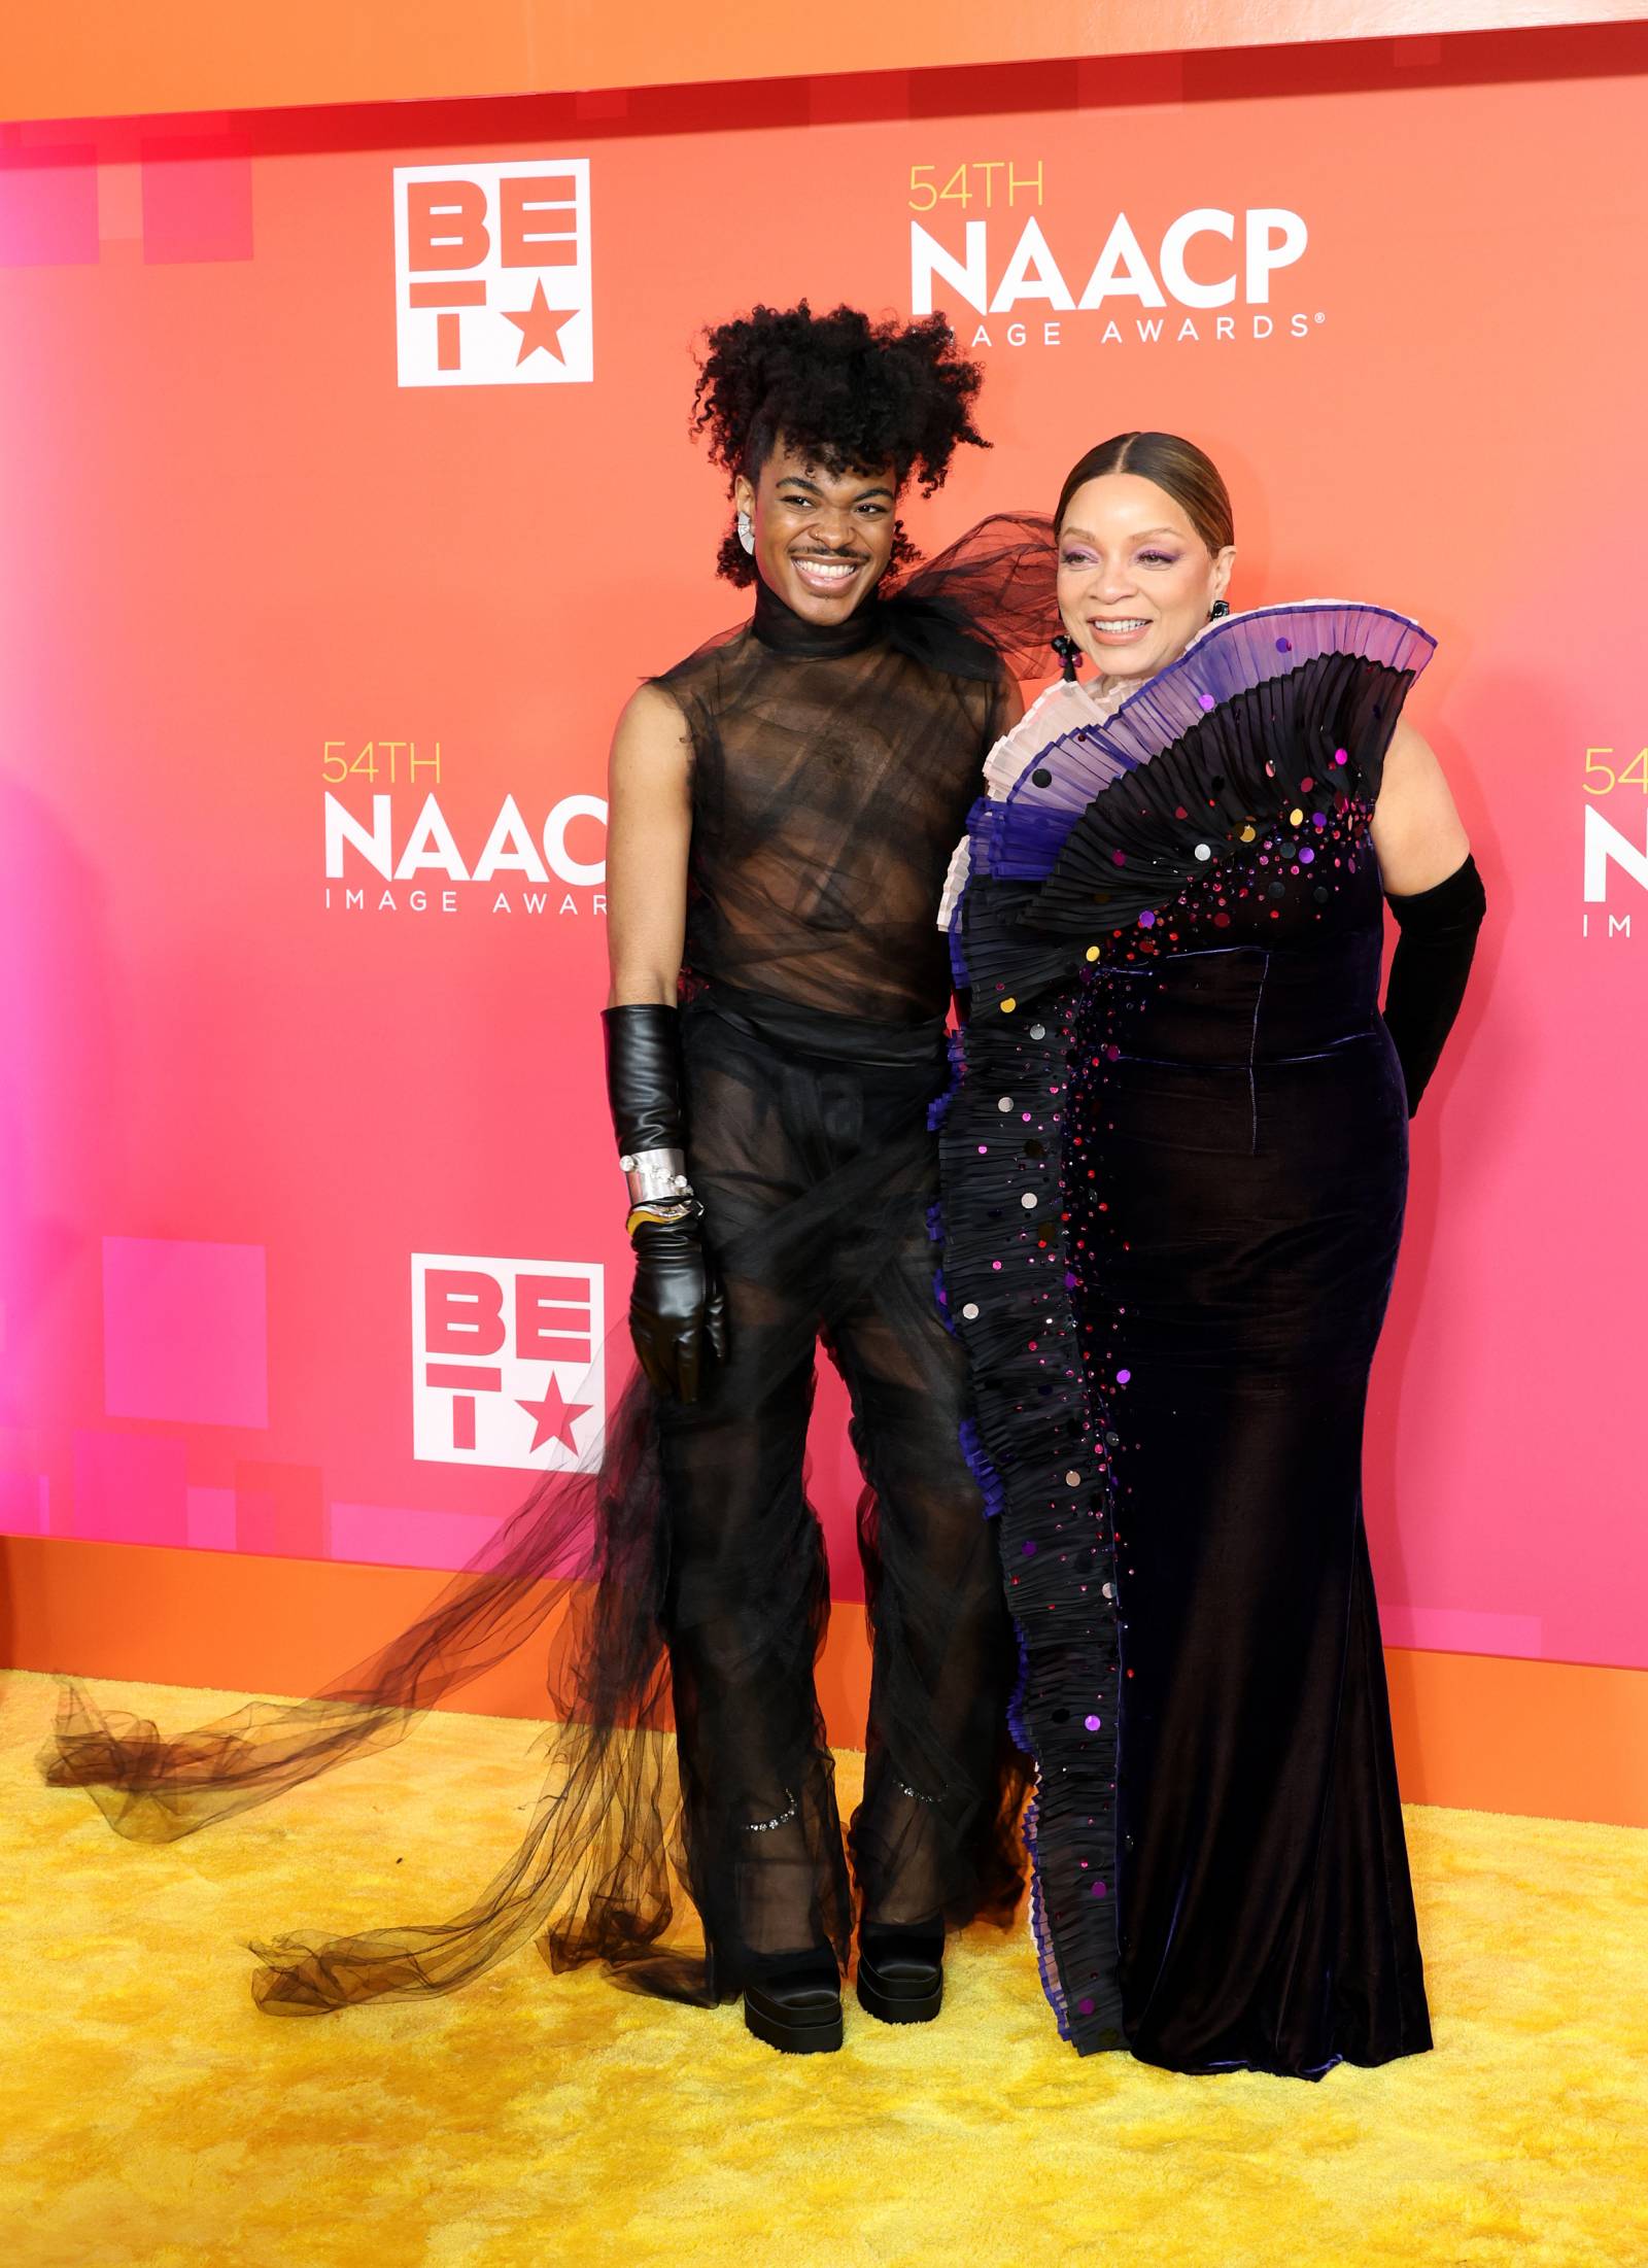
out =
[[[1068,674],[993,751],[948,891],[945,1295],[1059,2025],[1319,2077],[1430,2043],[1360,1452],[1483,894],[1401,717],[1433,640],[1229,615],[1233,556],[1172,435],[1065,485]]]

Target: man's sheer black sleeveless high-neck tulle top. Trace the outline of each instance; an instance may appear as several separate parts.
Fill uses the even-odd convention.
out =
[[[746,628],[655,683],[691,730],[687,993],[943,1016],[934,914],[1002,730],[1000,653],[920,592],[818,628],[757,585]]]

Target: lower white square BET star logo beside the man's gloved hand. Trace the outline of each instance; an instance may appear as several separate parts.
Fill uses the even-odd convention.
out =
[[[594,1465],[605,1429],[601,1270],[413,1254],[413,1456]]]

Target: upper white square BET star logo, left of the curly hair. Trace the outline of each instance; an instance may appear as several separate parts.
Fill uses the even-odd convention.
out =
[[[401,386],[594,376],[589,159],[394,168]]]

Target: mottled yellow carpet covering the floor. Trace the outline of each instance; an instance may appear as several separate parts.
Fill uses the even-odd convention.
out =
[[[184,1726],[243,1696],[104,1685]],[[934,2028],[834,2057],[551,1978],[274,2023],[245,1941],[428,1921],[535,1794],[524,1726],[438,1717],[172,1848],[109,1835],[0,1678],[0,2268],[1648,2268],[1648,1833],[1408,1814],[1437,2053],[1319,2087],[1054,2037],[970,1932]],[[843,1758],[846,1792],[857,1758]]]

